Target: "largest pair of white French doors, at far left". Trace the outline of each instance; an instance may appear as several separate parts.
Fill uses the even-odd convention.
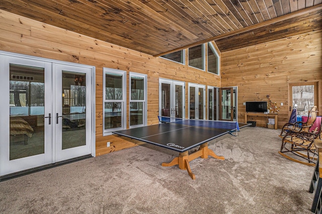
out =
[[[94,155],[94,68],[2,53],[0,62],[0,176]]]

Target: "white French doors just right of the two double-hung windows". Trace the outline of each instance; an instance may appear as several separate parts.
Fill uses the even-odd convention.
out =
[[[185,83],[159,80],[159,115],[185,118]]]

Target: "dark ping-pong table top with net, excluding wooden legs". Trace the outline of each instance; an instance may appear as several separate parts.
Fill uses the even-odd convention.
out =
[[[159,118],[160,119],[160,118]],[[113,131],[112,133],[154,144],[178,152],[185,152],[224,134],[239,131],[251,124],[231,121],[192,120],[172,118],[160,124]]]

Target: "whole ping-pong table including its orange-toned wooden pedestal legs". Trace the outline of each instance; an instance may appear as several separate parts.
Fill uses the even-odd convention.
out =
[[[188,171],[192,179],[195,179],[195,174],[191,171],[190,161],[198,157],[208,158],[209,155],[224,160],[223,156],[216,155],[208,148],[208,141],[227,133],[237,132],[239,128],[251,125],[232,121],[193,120],[160,116],[159,121],[162,123],[112,133],[178,151],[178,157],[175,157],[169,163],[162,163],[162,166],[179,165],[180,169]],[[198,150],[191,154],[188,153],[188,150],[197,146],[200,146]]]

